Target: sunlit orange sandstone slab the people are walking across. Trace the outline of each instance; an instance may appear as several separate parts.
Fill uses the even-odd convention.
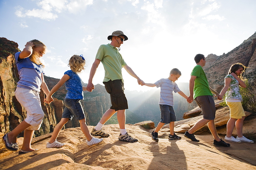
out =
[[[139,142],[119,141],[119,125],[111,124],[103,126],[110,137],[88,147],[80,128],[69,128],[62,130],[57,139],[66,143],[64,147],[46,148],[51,134],[42,135],[33,139],[32,147],[38,151],[22,155],[10,152],[0,159],[0,166],[1,169],[255,169],[256,161],[251,154],[256,152],[254,143],[214,147],[210,134],[197,135],[200,142],[193,142],[182,134],[177,134],[182,136],[181,140],[168,140],[168,132],[161,132],[164,138],[155,142],[149,132],[137,125],[126,128]],[[1,151],[3,154],[4,149]],[[237,155],[240,152],[251,156],[242,159]],[[227,166],[227,162],[232,166]]]

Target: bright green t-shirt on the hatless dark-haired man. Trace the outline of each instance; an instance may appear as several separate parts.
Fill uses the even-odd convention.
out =
[[[197,96],[213,96],[205,72],[200,65],[196,65],[194,67],[194,69],[191,72],[191,75],[196,76],[194,85],[194,99]]]

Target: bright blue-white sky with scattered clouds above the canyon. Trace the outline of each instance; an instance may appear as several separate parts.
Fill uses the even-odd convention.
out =
[[[121,30],[128,37],[120,53],[145,82],[167,78],[173,68],[188,82],[196,54],[228,53],[256,31],[255,0],[1,0],[0,37],[18,43],[37,39],[48,48],[41,58],[45,75],[60,79],[68,60],[83,54],[88,83],[95,55],[107,37]],[[212,68],[214,69],[214,68]],[[151,90],[122,69],[126,90]],[[102,84],[99,65],[93,84]],[[156,88],[156,87],[154,87]]]

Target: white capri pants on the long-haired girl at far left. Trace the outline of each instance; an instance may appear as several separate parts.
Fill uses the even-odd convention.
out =
[[[17,87],[15,97],[27,111],[27,118],[24,121],[31,125],[27,130],[39,130],[44,118],[39,92]]]

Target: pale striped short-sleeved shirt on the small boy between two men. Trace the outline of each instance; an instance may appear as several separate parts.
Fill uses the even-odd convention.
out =
[[[159,104],[173,106],[173,91],[175,93],[180,91],[178,85],[175,82],[170,81],[169,79],[160,79],[154,84],[157,88],[161,87]]]

